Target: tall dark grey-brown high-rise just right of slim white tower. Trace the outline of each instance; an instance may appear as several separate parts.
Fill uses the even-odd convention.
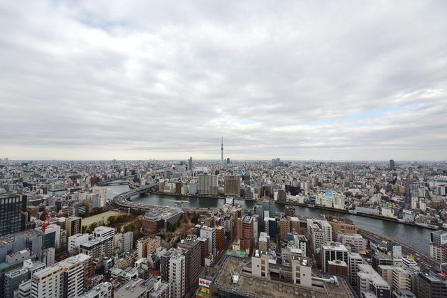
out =
[[[185,281],[185,292],[189,292],[196,288],[198,282],[198,276],[200,274],[200,242],[197,237],[186,237],[185,240],[181,240],[178,247],[185,249],[186,252],[184,256],[186,257],[186,281]]]

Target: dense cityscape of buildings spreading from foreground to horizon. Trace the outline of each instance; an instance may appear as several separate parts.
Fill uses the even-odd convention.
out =
[[[277,158],[9,161],[0,167],[9,219],[2,221],[0,291],[2,297],[228,297],[228,289],[240,297],[443,297],[446,168]],[[302,207],[318,214],[309,217]],[[344,213],[327,214],[332,210]],[[423,228],[425,250],[371,233],[344,214]]]

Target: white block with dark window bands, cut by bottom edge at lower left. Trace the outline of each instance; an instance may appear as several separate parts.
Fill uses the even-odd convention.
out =
[[[31,298],[64,297],[64,269],[47,267],[34,272],[31,279]]]

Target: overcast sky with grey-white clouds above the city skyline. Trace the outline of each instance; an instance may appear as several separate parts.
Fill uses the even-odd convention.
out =
[[[446,160],[446,15],[0,0],[0,158]]]

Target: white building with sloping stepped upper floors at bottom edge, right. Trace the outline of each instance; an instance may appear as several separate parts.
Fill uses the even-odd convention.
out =
[[[357,291],[359,297],[371,297],[371,295],[376,295],[377,298],[391,297],[391,285],[367,264],[358,265]]]

